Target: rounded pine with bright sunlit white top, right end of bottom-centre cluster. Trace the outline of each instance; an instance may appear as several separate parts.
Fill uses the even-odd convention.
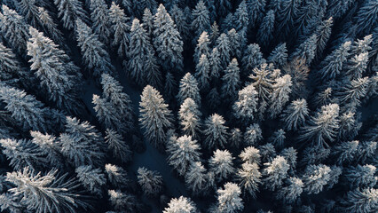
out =
[[[287,171],[290,169],[287,160],[278,155],[272,162],[266,162],[264,165],[265,169],[263,175],[265,176],[265,187],[271,191],[280,188],[283,184],[283,180],[287,178]]]

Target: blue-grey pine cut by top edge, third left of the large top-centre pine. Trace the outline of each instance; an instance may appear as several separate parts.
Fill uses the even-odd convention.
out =
[[[98,35],[102,43],[110,44],[112,22],[105,0],[90,0],[90,10],[93,32]]]

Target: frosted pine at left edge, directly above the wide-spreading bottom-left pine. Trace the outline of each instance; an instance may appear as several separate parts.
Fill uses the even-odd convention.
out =
[[[0,139],[0,145],[3,147],[3,154],[10,160],[9,165],[14,170],[21,170],[24,167],[36,170],[45,163],[49,163],[43,153],[39,152],[38,146],[27,139]]]

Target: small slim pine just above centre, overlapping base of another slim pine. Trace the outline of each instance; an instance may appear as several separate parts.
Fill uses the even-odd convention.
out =
[[[209,90],[210,63],[205,54],[201,55],[197,66],[195,67],[195,77],[197,78],[199,88],[202,91]]]

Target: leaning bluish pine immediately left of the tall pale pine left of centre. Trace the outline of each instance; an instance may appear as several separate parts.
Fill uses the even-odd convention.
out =
[[[113,106],[113,113],[119,114],[119,121],[122,122],[127,131],[132,130],[135,118],[130,96],[122,91],[121,83],[115,80],[111,75],[101,75],[101,85],[104,98],[110,101]],[[118,125],[122,126],[121,123]]]

